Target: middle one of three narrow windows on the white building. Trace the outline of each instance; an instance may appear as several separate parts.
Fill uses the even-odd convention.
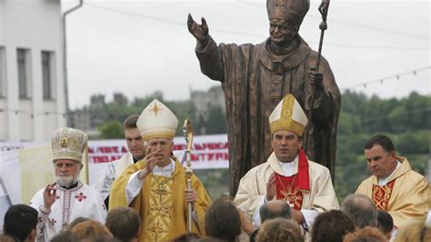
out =
[[[28,98],[30,97],[30,88],[29,88],[29,72],[28,72],[28,57],[27,50],[25,49],[17,49],[16,50],[16,59],[18,61],[18,91],[20,98]]]

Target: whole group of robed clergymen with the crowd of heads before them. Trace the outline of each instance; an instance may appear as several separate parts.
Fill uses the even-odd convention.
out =
[[[178,119],[156,99],[125,119],[129,152],[96,188],[79,180],[85,133],[61,128],[55,182],[8,209],[0,241],[430,241],[428,182],[389,137],[366,142],[372,176],[339,206],[328,169],[302,149],[306,124],[285,96],[269,117],[271,156],[214,202],[172,156]]]

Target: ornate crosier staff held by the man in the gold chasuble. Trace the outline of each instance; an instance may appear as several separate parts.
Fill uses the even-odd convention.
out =
[[[185,136],[185,142],[187,142],[187,149],[186,149],[186,159],[187,159],[187,165],[185,167],[185,176],[187,178],[187,189],[192,189],[192,175],[193,175],[193,169],[192,169],[192,163],[191,156],[192,156],[192,144],[193,144],[193,126],[192,122],[190,120],[185,119],[184,126],[183,126],[183,133]],[[188,203],[188,233],[192,233],[192,223],[193,223],[193,217],[192,217],[192,203]]]

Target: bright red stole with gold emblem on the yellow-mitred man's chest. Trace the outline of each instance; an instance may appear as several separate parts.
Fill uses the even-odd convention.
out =
[[[306,152],[299,149],[298,173],[294,176],[282,176],[276,173],[276,198],[285,200],[296,210],[300,210],[304,198],[303,191],[309,190],[308,160]]]

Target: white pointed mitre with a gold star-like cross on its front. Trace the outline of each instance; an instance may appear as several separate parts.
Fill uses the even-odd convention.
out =
[[[154,99],[142,111],[136,126],[144,140],[154,137],[174,138],[178,118],[167,106]]]

